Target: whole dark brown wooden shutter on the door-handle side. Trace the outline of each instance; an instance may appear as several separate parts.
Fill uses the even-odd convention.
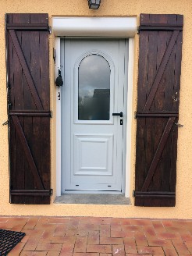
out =
[[[175,206],[182,15],[140,14],[135,205]]]

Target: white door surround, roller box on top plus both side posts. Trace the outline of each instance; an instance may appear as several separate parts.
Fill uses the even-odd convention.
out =
[[[127,92],[127,125],[126,125],[126,188],[125,197],[130,197],[130,171],[131,171],[131,123],[133,119],[133,44],[137,30],[136,17],[53,17],[52,29],[55,34],[55,77],[58,76],[62,60],[60,59],[60,37],[128,37],[128,92]],[[65,85],[64,85],[65,86]],[[61,91],[56,88],[56,196],[61,195]]]

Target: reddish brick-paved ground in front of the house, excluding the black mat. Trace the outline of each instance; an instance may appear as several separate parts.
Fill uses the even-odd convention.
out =
[[[2,216],[0,229],[26,233],[9,256],[192,254],[192,220]]]

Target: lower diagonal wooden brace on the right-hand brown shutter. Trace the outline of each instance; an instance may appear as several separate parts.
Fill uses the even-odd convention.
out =
[[[162,155],[163,149],[165,148],[166,141],[169,137],[169,133],[170,133],[170,130],[172,129],[173,123],[175,122],[175,119],[176,119],[176,117],[170,117],[166,123],[165,130],[162,133],[162,137],[158,144],[158,148],[155,151],[154,158],[153,158],[150,168],[148,170],[148,175],[146,176],[146,178],[144,180],[144,185],[141,189],[142,192],[147,192],[147,190],[148,190],[149,184],[151,183],[151,179],[154,176],[155,169],[158,165],[159,158]]]

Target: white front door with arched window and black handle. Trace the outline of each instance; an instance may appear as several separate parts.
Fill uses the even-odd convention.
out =
[[[128,41],[65,39],[61,52],[62,194],[124,192]]]

